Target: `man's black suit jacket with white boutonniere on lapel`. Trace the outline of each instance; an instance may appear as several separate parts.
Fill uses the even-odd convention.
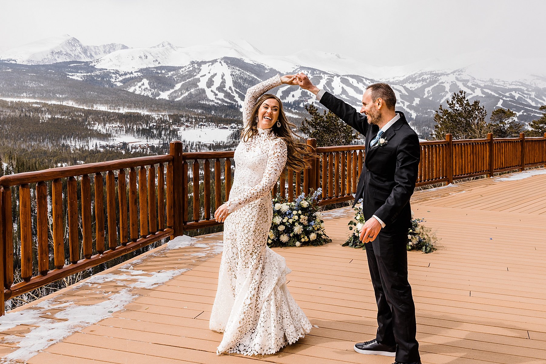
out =
[[[320,103],[366,136],[366,157],[354,205],[363,199],[364,218],[377,216],[385,223],[385,230],[409,229],[410,197],[417,180],[420,146],[404,114],[396,111],[400,119],[382,135],[387,144],[370,148],[371,140],[379,131],[377,125],[368,124],[365,115],[328,92],[323,94]]]

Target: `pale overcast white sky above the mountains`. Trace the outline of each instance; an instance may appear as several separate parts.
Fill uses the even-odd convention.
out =
[[[70,34],[85,45],[246,39],[270,55],[299,49],[401,65],[492,49],[546,57],[541,0],[0,0],[0,51]]]

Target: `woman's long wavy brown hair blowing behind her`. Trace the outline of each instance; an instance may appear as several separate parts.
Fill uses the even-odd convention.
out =
[[[294,128],[295,125],[288,121],[286,114],[284,114],[284,109],[282,108],[282,102],[275,95],[264,93],[258,98],[256,105],[254,105],[254,108],[252,109],[248,126],[241,132],[241,139],[246,142],[248,139],[258,134],[258,110],[264,101],[268,99],[277,100],[279,105],[277,122],[281,122],[281,126],[277,127],[277,122],[275,122],[271,129],[277,138],[286,142],[288,157],[284,172],[289,168],[294,171],[301,171],[304,168],[309,168],[311,166],[309,157],[314,156],[314,153],[307,150],[305,139],[292,131],[292,128]]]

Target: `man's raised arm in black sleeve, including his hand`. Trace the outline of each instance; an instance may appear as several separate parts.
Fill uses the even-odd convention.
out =
[[[301,88],[314,93],[317,96],[317,101],[324,105],[325,108],[333,112],[360,134],[366,135],[368,123],[365,115],[360,114],[353,106],[335,97],[333,94],[314,86],[311,80],[302,73],[298,74],[298,84]]]

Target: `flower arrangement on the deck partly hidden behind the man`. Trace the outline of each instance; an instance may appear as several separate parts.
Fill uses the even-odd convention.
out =
[[[362,212],[362,207],[354,207],[354,219],[349,221],[349,236],[347,241],[343,243],[344,247],[366,249],[366,244],[359,240],[360,230],[364,226],[365,219]],[[432,229],[422,225],[424,219],[412,218],[412,227],[408,231],[407,250],[421,250],[423,253],[432,253],[436,250],[438,238]]]

